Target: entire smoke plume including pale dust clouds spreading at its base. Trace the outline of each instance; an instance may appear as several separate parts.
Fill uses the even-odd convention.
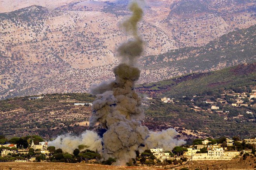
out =
[[[142,99],[135,92],[134,85],[140,77],[136,63],[144,46],[143,39],[137,34],[137,23],[143,14],[140,7],[142,3],[143,0],[131,1],[129,9],[133,14],[121,23],[121,27],[131,33],[133,39],[118,48],[122,63],[113,69],[115,80],[92,85],[90,88],[90,93],[97,96],[93,102],[90,126],[100,122],[101,127],[106,129],[103,137],[99,138],[96,133],[86,131],[80,137],[59,136],[50,145],[69,153],[78,148],[78,145],[87,145],[91,150],[97,148],[105,160],[112,157],[117,159],[116,165],[125,165],[131,158],[136,158],[137,150],[142,152],[153,147],[172,150],[174,146],[185,143],[174,139],[174,129],[153,133],[141,125],[144,110]]]

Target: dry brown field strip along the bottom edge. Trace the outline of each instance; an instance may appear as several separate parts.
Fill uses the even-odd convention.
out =
[[[118,167],[99,164],[87,163],[50,163],[50,162],[1,162],[0,170],[163,170],[181,168],[189,168],[189,170],[255,170],[256,158],[235,158],[228,160],[214,160],[214,161],[193,161],[185,165],[175,167],[172,166],[153,166],[153,167]]]

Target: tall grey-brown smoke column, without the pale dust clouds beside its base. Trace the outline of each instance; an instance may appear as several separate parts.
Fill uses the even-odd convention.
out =
[[[93,102],[90,126],[99,121],[107,130],[102,137],[102,154],[105,159],[117,158],[117,165],[125,165],[135,158],[135,151],[149,134],[148,128],[141,126],[140,120],[144,117],[142,100],[134,90],[140,77],[140,70],[135,64],[144,45],[137,34],[137,23],[142,19],[143,11],[136,1],[130,3],[129,9],[133,14],[121,23],[121,27],[131,33],[133,39],[118,47],[122,63],[113,69],[116,79],[90,88],[90,92],[97,96]]]

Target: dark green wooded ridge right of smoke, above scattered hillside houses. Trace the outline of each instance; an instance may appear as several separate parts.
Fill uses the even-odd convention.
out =
[[[191,73],[169,80],[137,85],[140,93],[159,97],[182,97],[256,85],[256,63],[241,64],[208,73]]]

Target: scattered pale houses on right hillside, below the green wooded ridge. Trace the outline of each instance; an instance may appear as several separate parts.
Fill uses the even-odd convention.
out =
[[[149,102],[152,100],[155,100],[153,97],[144,97],[143,105],[149,105]],[[192,102],[192,105],[190,105],[190,109],[195,110],[196,112],[210,112],[210,113],[218,113],[220,116],[223,117],[224,120],[228,120],[229,118],[237,119],[246,117],[248,118],[248,121],[255,121],[255,112],[252,110],[247,110],[245,112],[239,112],[237,114],[234,114],[233,116],[228,116],[230,114],[230,111],[228,111],[228,107],[242,107],[242,106],[251,106],[256,107],[256,89],[251,89],[250,93],[241,92],[236,93],[232,90],[224,91],[223,94],[220,94],[218,98],[214,97],[204,97],[204,96],[198,96],[194,95],[193,97],[187,97],[183,96],[182,99],[184,100],[190,100]],[[180,102],[180,99],[176,98],[168,98],[164,97],[161,98],[161,101],[163,103],[172,103],[172,104],[178,104]],[[245,121],[245,120],[240,120]]]

